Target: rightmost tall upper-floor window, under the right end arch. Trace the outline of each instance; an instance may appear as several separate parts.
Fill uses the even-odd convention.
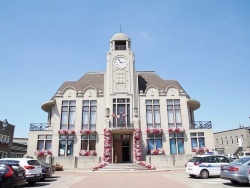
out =
[[[167,99],[168,128],[182,127],[179,99]]]

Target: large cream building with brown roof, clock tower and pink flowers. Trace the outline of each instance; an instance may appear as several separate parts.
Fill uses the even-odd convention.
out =
[[[211,122],[195,121],[200,103],[178,81],[136,71],[135,62],[130,38],[115,34],[105,72],[64,82],[42,105],[48,122],[30,125],[27,154],[65,168],[138,161],[166,168],[212,151]]]

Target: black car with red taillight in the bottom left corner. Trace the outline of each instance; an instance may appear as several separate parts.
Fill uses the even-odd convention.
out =
[[[0,187],[17,187],[26,184],[25,169],[19,164],[0,164]]]

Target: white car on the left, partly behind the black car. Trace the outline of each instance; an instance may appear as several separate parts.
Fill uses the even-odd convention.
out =
[[[15,163],[19,164],[25,169],[26,181],[29,184],[35,184],[42,178],[42,167],[40,163],[35,159],[30,158],[2,158],[0,163],[10,164]]]

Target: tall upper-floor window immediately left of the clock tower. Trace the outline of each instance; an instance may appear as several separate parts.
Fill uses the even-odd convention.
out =
[[[96,129],[96,100],[84,100],[82,104],[82,129]]]

